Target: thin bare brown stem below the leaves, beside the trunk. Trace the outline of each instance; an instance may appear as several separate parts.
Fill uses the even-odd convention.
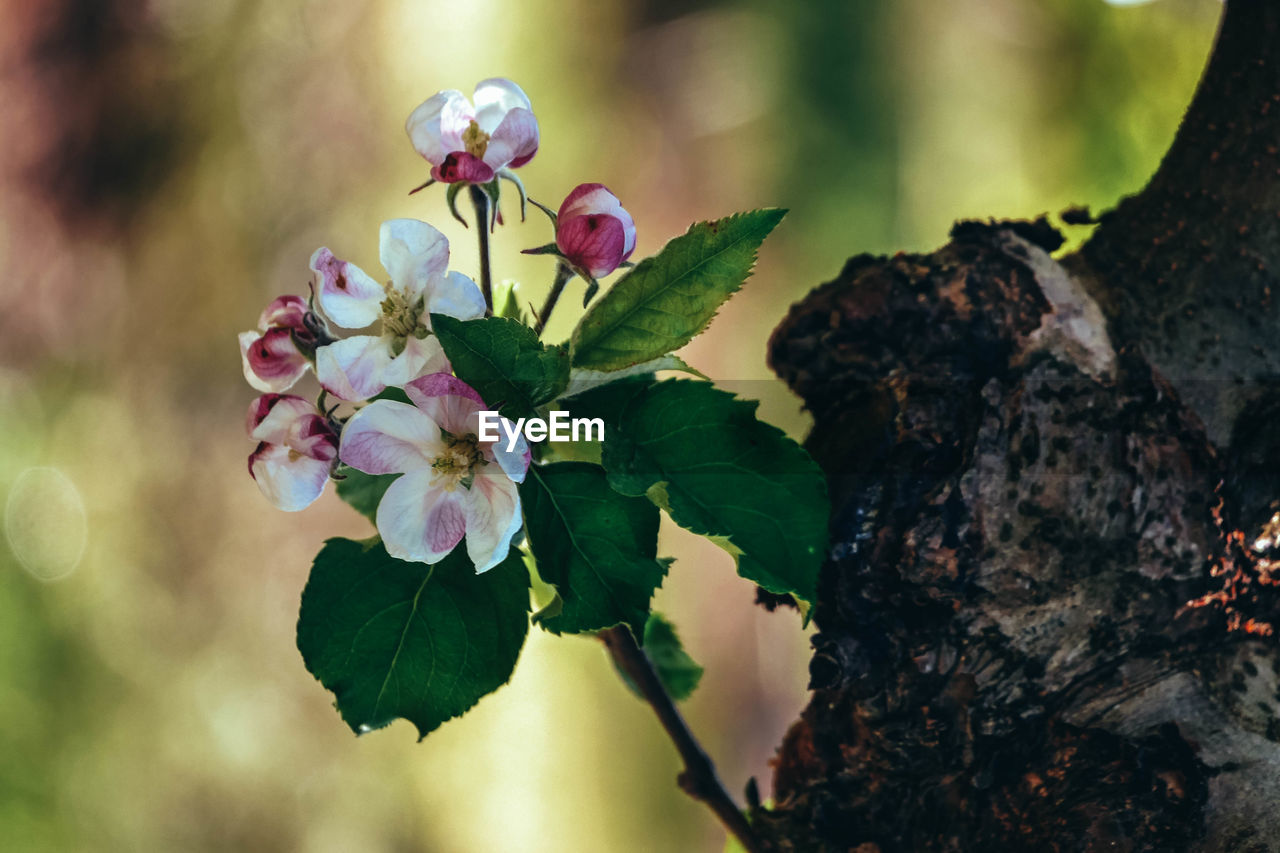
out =
[[[631,631],[625,626],[611,628],[600,631],[600,639],[609,649],[618,669],[627,674],[645,702],[658,715],[658,721],[667,730],[667,736],[676,744],[676,749],[685,762],[685,770],[677,777],[681,789],[694,799],[707,803],[716,812],[716,817],[724,825],[724,829],[737,839],[748,853],[764,853],[755,833],[751,831],[751,825],[746,822],[746,816],[739,811],[724,790],[724,785],[716,775],[716,766],[712,765],[712,760],[689,730],[689,724],[685,722],[676,703],[672,702],[667,689],[662,685],[644,649],[636,646]]]

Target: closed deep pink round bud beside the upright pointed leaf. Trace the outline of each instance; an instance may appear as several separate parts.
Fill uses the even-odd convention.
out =
[[[631,257],[636,224],[603,183],[582,183],[561,204],[556,247],[570,264],[600,278]]]

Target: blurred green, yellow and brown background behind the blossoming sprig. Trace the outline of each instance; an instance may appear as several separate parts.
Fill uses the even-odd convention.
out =
[[[552,204],[607,183],[639,256],[689,222],[791,215],[686,356],[792,434],[764,345],[860,251],[961,216],[1100,210],[1140,187],[1190,97],[1216,0],[46,0],[0,4],[0,849],[718,850],[649,711],[586,639],[531,634],[511,685],[416,744],[355,738],[293,644],[326,494],[273,510],[236,333],[333,247],[380,274],[416,216],[474,234],[404,117],[520,82]],[[540,298],[545,220],[495,238]],[[1073,238],[1080,234],[1073,232]],[[580,287],[580,284],[577,286]],[[571,291],[575,295],[581,291]],[[573,300],[568,301],[572,305]],[[562,304],[564,305],[564,304]],[[570,329],[562,309],[554,334]],[[311,380],[306,380],[311,382]],[[311,386],[303,386],[306,393]],[[737,793],[806,701],[808,638],[712,546],[658,607],[708,667],[687,703]]]

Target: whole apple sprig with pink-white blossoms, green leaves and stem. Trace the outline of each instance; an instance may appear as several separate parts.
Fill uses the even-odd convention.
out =
[[[685,756],[686,788],[754,849],[673,710],[701,669],[650,601],[672,570],[658,556],[663,514],[806,617],[815,598],[828,515],[818,467],[755,402],[675,355],[748,279],[785,211],[695,223],[632,265],[636,223],[604,184],[581,183],[554,209],[526,196],[515,169],[538,151],[539,127],[511,81],[486,79],[472,99],[439,92],[406,129],[431,174],[412,192],[448,184],[458,219],[456,197],[471,193],[477,264],[451,259],[426,222],[389,219],[384,279],[320,247],[310,297],[280,296],[239,336],[244,377],[265,392],[247,420],[262,494],[298,511],[332,479],[375,528],[316,556],[302,658],[357,733],[406,719],[425,736],[511,678],[530,624],[599,637]],[[509,300],[494,310],[499,179],[517,188],[521,219],[531,201],[552,225],[525,250],[552,266],[527,320]],[[582,316],[568,341],[545,341],[575,279]],[[314,401],[298,392],[308,370]],[[673,373],[686,375],[659,378]],[[559,418],[570,435],[557,437]]]

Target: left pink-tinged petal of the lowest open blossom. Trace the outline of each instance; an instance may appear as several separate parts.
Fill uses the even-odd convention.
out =
[[[440,428],[408,403],[375,400],[347,421],[338,456],[365,474],[430,470],[444,452]]]

